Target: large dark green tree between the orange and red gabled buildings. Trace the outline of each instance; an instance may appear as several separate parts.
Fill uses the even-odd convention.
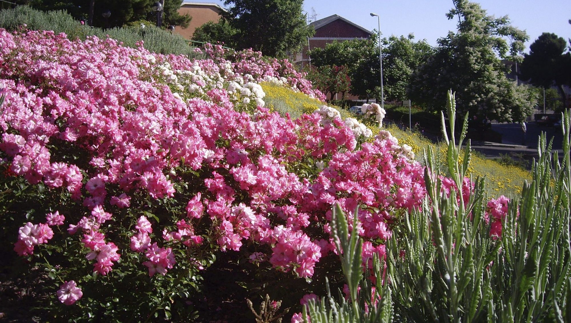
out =
[[[224,5],[230,8],[223,19],[238,30],[238,49],[284,57],[300,51],[315,32],[305,23],[303,0],[225,0]]]

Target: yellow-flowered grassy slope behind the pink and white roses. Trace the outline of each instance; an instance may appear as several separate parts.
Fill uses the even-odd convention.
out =
[[[273,85],[271,83],[262,83],[262,87],[266,92],[264,101],[267,102],[270,109],[279,111],[281,114],[289,113],[292,118],[298,118],[303,113],[312,113],[319,109],[324,103],[309,98],[307,95],[295,92],[283,86]],[[341,113],[341,117],[351,117],[349,111],[337,109]],[[373,133],[379,129],[372,129]],[[387,130],[399,139],[399,143],[406,143],[411,146],[416,154],[416,159],[423,162],[423,151],[428,146],[432,146],[435,151],[439,151],[440,156],[444,158],[445,147],[441,144],[435,144],[429,139],[422,137],[420,134],[403,131],[396,126],[389,126]],[[521,193],[521,188],[525,180],[531,180],[528,171],[517,168],[515,166],[501,165],[491,159],[482,158],[478,155],[472,155],[470,168],[468,169],[473,178],[478,176],[486,178],[486,184],[491,196],[517,196]]]

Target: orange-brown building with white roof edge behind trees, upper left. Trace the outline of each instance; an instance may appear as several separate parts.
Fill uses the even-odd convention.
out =
[[[226,10],[214,2],[193,2],[184,0],[182,5],[180,5],[179,14],[188,14],[192,17],[192,20],[186,29],[176,26],[175,33],[190,40],[196,28],[209,21],[218,22],[220,20],[220,14],[223,11]]]

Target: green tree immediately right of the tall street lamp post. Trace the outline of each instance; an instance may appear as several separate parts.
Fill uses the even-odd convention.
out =
[[[383,82],[387,100],[408,98],[411,75],[427,61],[434,49],[425,40],[414,42],[415,36],[391,36],[383,44]]]

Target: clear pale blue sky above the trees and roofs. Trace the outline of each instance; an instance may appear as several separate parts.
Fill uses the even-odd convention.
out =
[[[211,0],[212,1],[212,0]],[[206,1],[205,1],[206,2]],[[223,6],[223,1],[214,0]],[[555,33],[571,38],[571,0],[480,0],[488,14],[508,15],[512,26],[526,30],[532,43],[541,33]],[[315,9],[317,19],[337,14],[368,30],[377,29],[381,18],[381,33],[390,35],[415,34],[436,46],[436,39],[456,30],[457,20],[448,20],[446,13],[453,7],[452,0],[305,0],[304,9],[311,15]],[[526,49],[528,51],[528,49]]]

